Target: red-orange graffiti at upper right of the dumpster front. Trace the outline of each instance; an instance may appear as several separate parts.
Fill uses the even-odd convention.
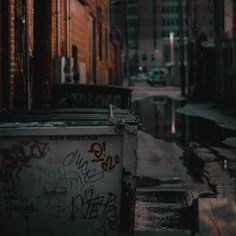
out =
[[[90,146],[88,152],[94,155],[92,162],[100,162],[101,167],[104,171],[112,171],[120,163],[120,156],[106,155],[106,143],[93,143]]]

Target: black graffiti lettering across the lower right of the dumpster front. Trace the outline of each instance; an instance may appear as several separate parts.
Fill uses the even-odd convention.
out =
[[[57,199],[48,202],[47,212],[52,217],[71,221],[98,221],[103,235],[108,235],[109,229],[115,231],[118,226],[117,195],[112,192],[101,195],[93,185],[67,202]]]

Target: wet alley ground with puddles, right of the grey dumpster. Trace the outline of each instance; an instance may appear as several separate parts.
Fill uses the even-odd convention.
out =
[[[133,109],[142,124],[134,235],[211,235],[216,224],[204,222],[206,208],[193,202],[235,201],[236,149],[224,141],[236,132],[178,113],[186,101],[176,87],[133,88]],[[215,201],[211,204],[217,210]],[[220,216],[212,218],[217,223]]]

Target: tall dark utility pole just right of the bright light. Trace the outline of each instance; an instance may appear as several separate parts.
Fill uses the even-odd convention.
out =
[[[184,21],[183,0],[179,0],[179,29],[180,29],[180,83],[181,96],[185,96],[185,65],[184,65]]]

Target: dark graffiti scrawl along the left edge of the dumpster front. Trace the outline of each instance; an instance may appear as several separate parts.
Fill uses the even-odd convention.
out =
[[[11,148],[0,147],[0,202],[6,212],[6,220],[15,214],[23,216],[27,232],[29,217],[38,213],[39,208],[19,190],[23,181],[21,174],[28,168],[31,159],[44,158],[47,148],[48,143],[37,140],[19,141]]]

